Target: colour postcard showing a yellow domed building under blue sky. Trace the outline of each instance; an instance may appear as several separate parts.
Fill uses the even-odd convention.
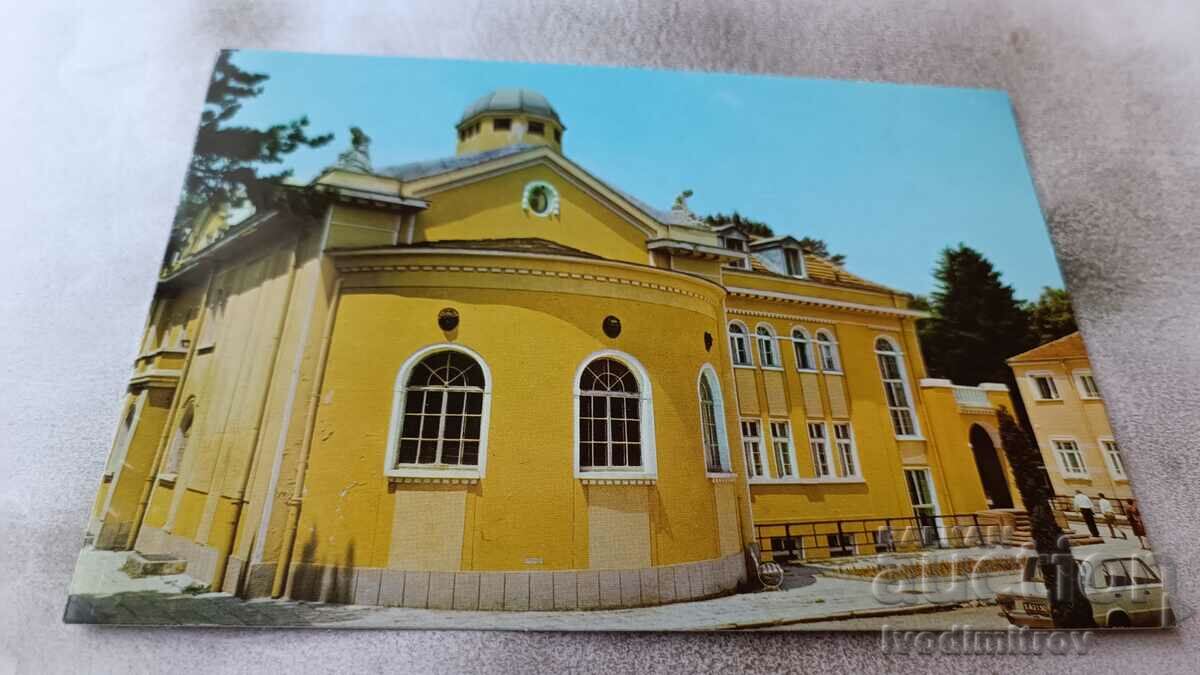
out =
[[[230,50],[182,178],[68,622],[1175,622],[1002,91]]]

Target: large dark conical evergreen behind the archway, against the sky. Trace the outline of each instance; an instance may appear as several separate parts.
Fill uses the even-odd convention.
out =
[[[982,253],[962,244],[942,251],[934,276],[932,316],[919,327],[930,374],[958,384],[1009,382],[1004,360],[1033,346],[1028,316],[1012,286]]]

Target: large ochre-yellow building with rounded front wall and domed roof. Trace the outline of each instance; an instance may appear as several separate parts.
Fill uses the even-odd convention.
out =
[[[1007,392],[925,380],[908,295],[612,187],[535,92],[456,131],[198,221],[96,546],[244,597],[593,609],[733,592],[773,524],[821,557],[884,545],[865,519],[1012,506]]]

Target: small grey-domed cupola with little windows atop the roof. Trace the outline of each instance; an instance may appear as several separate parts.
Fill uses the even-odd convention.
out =
[[[524,143],[563,151],[566,126],[545,96],[529,89],[497,89],[462,112],[458,155]]]

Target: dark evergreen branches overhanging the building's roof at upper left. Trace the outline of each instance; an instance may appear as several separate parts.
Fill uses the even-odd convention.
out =
[[[206,208],[241,207],[247,201],[262,208],[275,197],[274,187],[292,175],[290,169],[260,174],[263,165],[278,165],[300,148],[319,148],[332,133],[308,136],[308,118],[300,117],[266,129],[230,126],[242,102],[263,92],[270,76],[252,73],[233,64],[234,52],[223,50],[212,68],[204,110],[196,135],[192,161],[184,181],[172,232],[172,246]]]

